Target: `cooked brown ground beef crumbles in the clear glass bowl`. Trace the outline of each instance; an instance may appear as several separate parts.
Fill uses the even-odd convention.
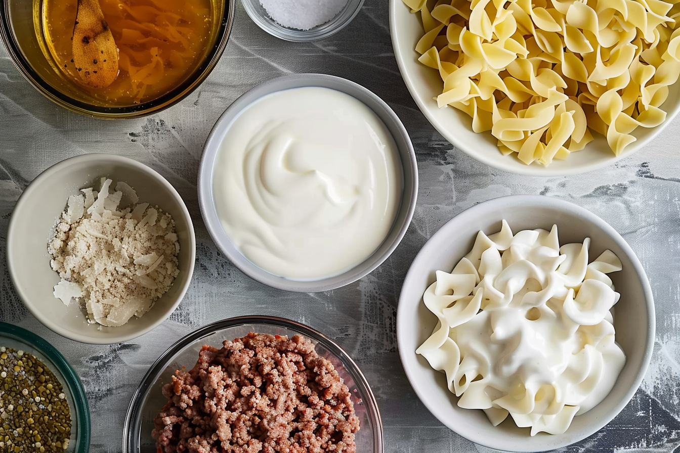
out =
[[[223,345],[163,386],[159,452],[356,453],[350,390],[307,338],[251,332]]]

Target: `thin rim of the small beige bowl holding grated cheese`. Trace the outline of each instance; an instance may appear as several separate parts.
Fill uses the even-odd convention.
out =
[[[16,202],[16,205],[14,206],[14,211],[17,211],[22,204],[24,203],[29,203],[31,200],[31,194],[33,193],[33,190],[35,187],[40,185],[42,181],[45,181],[46,179],[50,178],[52,175],[55,173],[59,173],[61,170],[64,168],[67,168],[71,166],[71,164],[78,162],[80,160],[91,160],[93,158],[99,158],[101,160],[106,160],[108,162],[116,162],[118,164],[123,164],[127,166],[131,166],[134,168],[137,168],[141,170],[143,173],[148,173],[150,177],[153,177],[154,179],[157,179],[162,185],[165,186],[169,194],[173,196],[173,198],[176,198],[177,201],[180,204],[180,207],[182,208],[182,213],[188,219],[187,225],[188,225],[188,232],[189,232],[189,241],[192,246],[191,250],[191,259],[189,260],[190,262],[187,263],[187,270],[186,272],[188,273],[188,278],[186,280],[186,284],[184,285],[184,288],[182,288],[182,291],[177,295],[177,300],[175,303],[171,306],[168,314],[164,316],[161,319],[158,319],[156,323],[153,323],[152,325],[149,325],[146,327],[146,329],[141,329],[139,331],[136,331],[135,333],[131,333],[130,335],[126,336],[121,336],[118,338],[117,342],[125,342],[132,340],[133,338],[137,338],[139,336],[142,336],[144,333],[147,333],[160,325],[160,323],[163,323],[165,319],[167,319],[170,314],[175,311],[175,308],[177,308],[178,305],[180,305],[180,302],[182,302],[182,299],[184,299],[184,295],[186,295],[186,291],[189,289],[189,285],[191,283],[191,278],[194,274],[194,261],[196,260],[196,235],[194,234],[194,224],[191,221],[191,216],[189,215],[188,209],[186,209],[186,204],[184,204],[184,200],[182,200],[182,197],[180,194],[177,193],[177,190],[175,190],[175,187],[171,183],[167,181],[160,173],[158,173],[156,170],[151,168],[150,166],[147,166],[145,164],[142,164],[141,162],[137,162],[137,160],[133,160],[130,158],[126,158],[123,156],[118,156],[117,154],[106,154],[106,153],[88,153],[88,154],[80,154],[79,156],[74,156],[72,158],[68,158],[65,160],[62,160],[61,162],[57,162],[56,164],[50,166],[49,168],[46,168],[42,173],[37,175],[31,183],[24,189],[24,192],[22,192],[21,196],[19,197],[19,200]],[[12,215],[10,217],[10,225],[7,228],[7,242],[10,242],[10,239],[12,238],[12,232],[16,228],[21,228],[21,225],[18,225],[18,220],[16,216]],[[47,244],[46,244],[47,246]],[[73,332],[64,329],[60,325],[56,323],[52,323],[50,319],[48,319],[46,316],[44,316],[39,310],[36,310],[33,304],[30,302],[26,302],[28,300],[27,295],[24,293],[22,290],[22,287],[18,285],[18,277],[14,274],[14,271],[12,270],[12,253],[10,251],[10,247],[7,247],[7,268],[10,271],[10,279],[12,280],[12,285],[14,285],[14,289],[18,293],[20,299],[22,302],[24,302],[24,305],[29,309],[29,311],[35,316],[35,318],[40,321],[43,325],[48,327],[50,330],[58,333],[59,335],[65,337],[65,338],[70,338],[71,340],[75,340],[78,342],[86,342],[90,344],[111,344],[112,342],[110,341],[102,341],[102,342],[95,342],[93,340],[87,340],[84,341],[83,338],[78,338],[78,336],[74,336]],[[153,308],[152,308],[153,310]]]

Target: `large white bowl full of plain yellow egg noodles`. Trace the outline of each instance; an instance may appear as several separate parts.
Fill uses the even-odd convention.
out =
[[[680,110],[677,7],[607,1],[390,0],[394,54],[422,113],[473,158],[520,175],[596,170]]]

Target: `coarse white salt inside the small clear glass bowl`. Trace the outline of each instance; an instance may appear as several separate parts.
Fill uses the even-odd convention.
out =
[[[338,15],[347,0],[260,0],[267,14],[289,29],[309,30]]]

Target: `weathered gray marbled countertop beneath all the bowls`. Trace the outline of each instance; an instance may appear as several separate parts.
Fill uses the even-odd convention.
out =
[[[314,43],[280,41],[237,2],[231,37],[217,67],[178,105],[139,120],[94,120],[58,107],[15,69],[0,46],[0,321],[35,331],[80,374],[92,414],[92,453],[118,452],[130,397],[169,344],[211,321],[284,315],[334,338],[357,361],[379,403],[386,452],[490,452],[444,427],[420,403],[399,361],[396,306],[403,278],[424,242],[475,203],[508,194],[569,200],[610,223],[645,268],[656,302],[656,343],[645,380],[607,427],[564,452],[680,452],[680,118],[617,164],[573,177],[520,177],[479,164],[430,126],[396,67],[388,0],[367,0],[337,35]],[[203,143],[219,115],[246,90],[289,73],[328,73],[356,81],[386,101],[405,124],[418,157],[420,189],[411,226],[377,270],[342,289],[277,291],[235,268],[209,238],[197,200]],[[82,153],[117,153],[165,176],[184,198],[197,235],[193,280],[182,304],[136,340],[95,346],[41,325],[14,292],[7,223],[24,188],[52,164]]]

